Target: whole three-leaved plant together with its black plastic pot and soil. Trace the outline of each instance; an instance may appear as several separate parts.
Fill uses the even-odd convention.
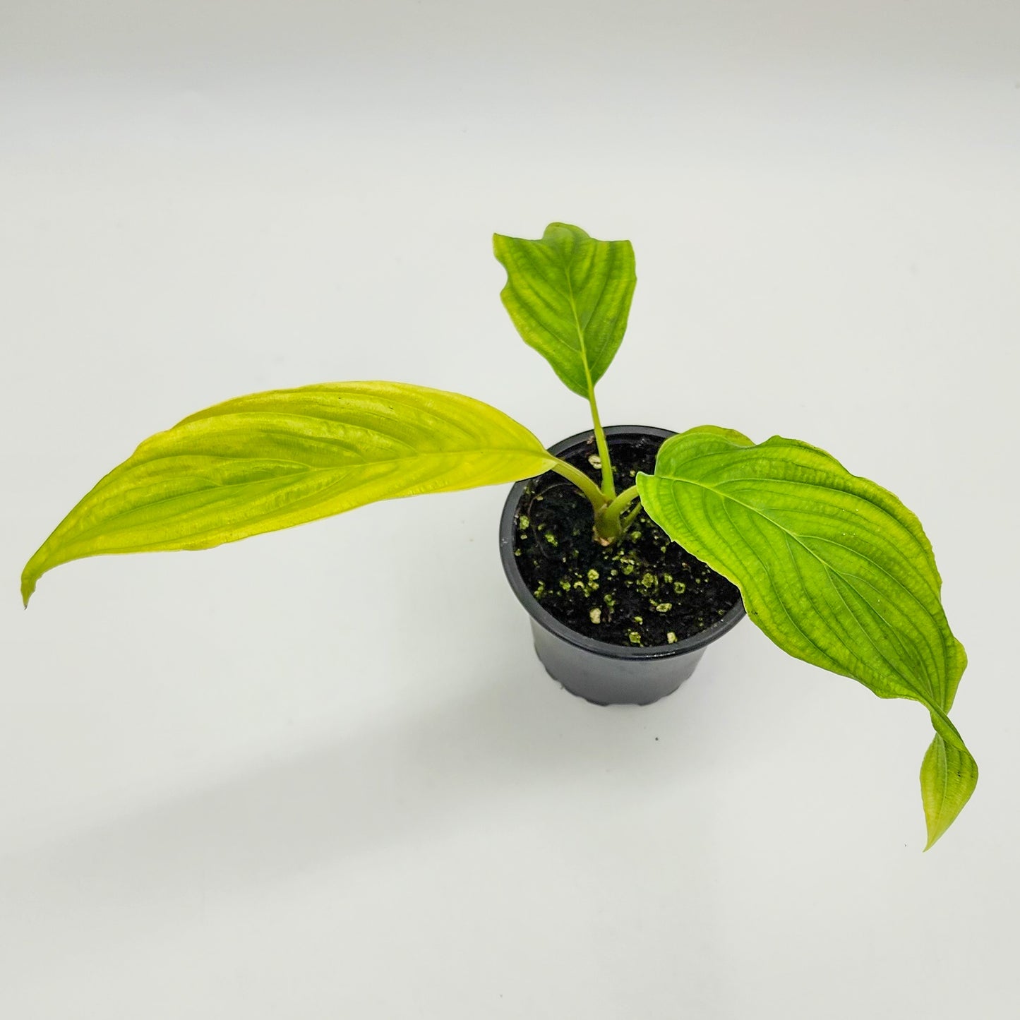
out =
[[[564,685],[654,701],[746,610],[788,654],[927,709],[930,847],[977,766],[949,718],[966,655],[918,519],[807,443],[604,428],[595,388],[626,328],[629,242],[552,223],[539,241],[497,235],[495,251],[514,325],[588,401],[590,432],[547,450],[489,405],[398,382],[240,397],[151,437],[102,478],[29,561],[26,606],[69,560],[208,549],[376,500],[516,482],[501,554]]]

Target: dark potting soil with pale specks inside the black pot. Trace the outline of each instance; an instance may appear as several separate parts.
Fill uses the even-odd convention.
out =
[[[655,470],[661,440],[613,437],[617,492]],[[564,460],[601,482],[594,438]],[[593,537],[592,504],[562,475],[529,482],[514,528],[514,556],[539,603],[561,623],[610,645],[672,645],[706,630],[736,604],[737,589],[692,556],[645,513],[623,538]]]

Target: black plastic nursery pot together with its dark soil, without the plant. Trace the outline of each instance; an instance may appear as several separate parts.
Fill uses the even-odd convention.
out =
[[[673,435],[607,428],[617,490],[632,484],[636,470],[651,472]],[[593,432],[550,452],[599,479]],[[744,603],[644,512],[612,551],[598,546],[592,526],[591,504],[561,475],[518,481],[500,520],[503,569],[553,679],[596,705],[649,705],[691,676],[705,649],[745,615]]]

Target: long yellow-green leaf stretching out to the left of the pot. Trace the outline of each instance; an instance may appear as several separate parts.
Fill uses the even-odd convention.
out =
[[[146,440],[63,519],[21,575],[107,553],[208,549],[376,500],[498,484],[554,458],[459,394],[329,382],[253,394]]]

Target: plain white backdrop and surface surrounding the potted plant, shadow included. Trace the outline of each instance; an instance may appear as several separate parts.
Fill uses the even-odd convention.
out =
[[[0,1015],[1013,1018],[1020,7],[0,2]],[[494,231],[629,238],[607,423],[822,446],[925,522],[982,769],[750,623],[650,708],[542,671],[499,489],[24,561],[273,387],[586,408]]]

